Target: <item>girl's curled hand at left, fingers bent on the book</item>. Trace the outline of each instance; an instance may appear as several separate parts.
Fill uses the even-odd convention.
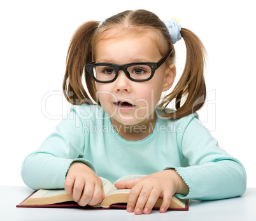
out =
[[[92,169],[80,162],[72,163],[69,167],[64,187],[80,206],[94,206],[105,197],[101,179]]]

